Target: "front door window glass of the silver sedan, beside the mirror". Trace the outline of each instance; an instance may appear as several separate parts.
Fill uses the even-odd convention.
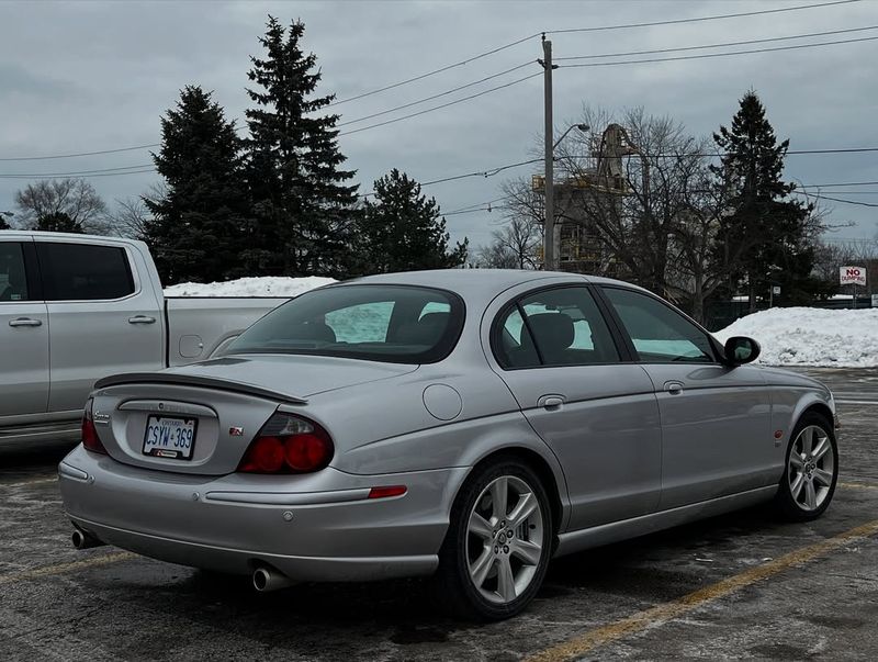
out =
[[[604,292],[631,337],[641,361],[716,362],[707,335],[672,307],[632,290],[605,288]]]

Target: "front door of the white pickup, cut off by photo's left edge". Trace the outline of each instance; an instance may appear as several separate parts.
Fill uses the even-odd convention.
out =
[[[33,242],[0,237],[0,427],[46,412],[48,315],[42,299]]]

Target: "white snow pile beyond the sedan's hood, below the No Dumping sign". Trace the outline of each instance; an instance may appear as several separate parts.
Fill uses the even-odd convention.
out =
[[[759,363],[769,366],[878,366],[878,308],[770,308],[741,317],[713,334],[750,336],[762,346]]]

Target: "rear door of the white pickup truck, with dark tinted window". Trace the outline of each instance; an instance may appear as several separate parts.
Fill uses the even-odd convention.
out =
[[[164,367],[164,312],[128,246],[37,239],[36,248],[52,328],[49,412],[81,409],[102,377]]]

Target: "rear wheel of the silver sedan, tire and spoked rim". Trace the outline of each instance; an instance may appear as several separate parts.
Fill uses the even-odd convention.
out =
[[[540,590],[553,540],[549,496],[537,473],[518,458],[491,460],[466,479],[451,508],[435,577],[438,602],[468,620],[515,616]]]

